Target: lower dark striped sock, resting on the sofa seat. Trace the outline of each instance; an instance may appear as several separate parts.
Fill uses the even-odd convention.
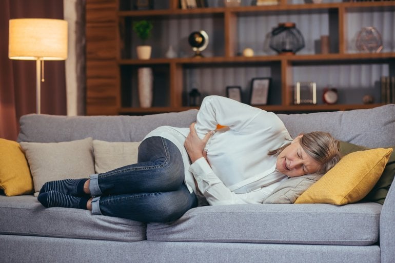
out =
[[[45,207],[66,207],[87,209],[88,197],[77,197],[63,194],[57,191],[41,193],[37,197],[38,201]]]

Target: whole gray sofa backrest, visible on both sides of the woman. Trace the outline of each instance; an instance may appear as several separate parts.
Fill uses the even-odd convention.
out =
[[[28,114],[21,117],[18,141],[49,143],[92,137],[106,141],[140,141],[156,127],[188,127],[197,110],[145,116],[55,116]],[[327,131],[335,138],[366,147],[395,146],[395,105],[373,109],[278,114],[291,136]]]

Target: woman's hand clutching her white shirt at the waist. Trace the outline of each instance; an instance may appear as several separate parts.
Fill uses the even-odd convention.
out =
[[[187,150],[192,163],[194,163],[194,161],[199,158],[206,158],[206,152],[204,151],[204,148],[207,144],[207,141],[214,134],[214,132],[207,133],[206,136],[201,139],[196,133],[195,123],[192,123],[189,126],[189,131],[190,132],[184,142],[184,147]]]

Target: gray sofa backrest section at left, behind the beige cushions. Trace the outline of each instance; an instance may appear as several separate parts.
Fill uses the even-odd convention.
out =
[[[57,116],[28,114],[19,119],[18,141],[52,143],[92,137],[105,141],[141,141],[159,126],[189,127],[198,110],[145,116]]]

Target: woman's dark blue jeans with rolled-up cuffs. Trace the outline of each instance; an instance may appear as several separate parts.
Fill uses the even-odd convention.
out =
[[[139,147],[137,164],[90,177],[92,213],[143,222],[168,222],[198,206],[184,184],[179,149],[168,139],[149,137]]]

